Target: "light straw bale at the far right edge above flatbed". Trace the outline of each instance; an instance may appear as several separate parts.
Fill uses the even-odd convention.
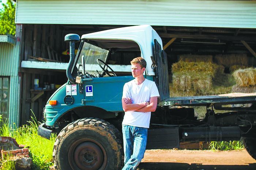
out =
[[[232,92],[255,93],[256,92],[256,68],[239,69],[233,73],[236,85]]]

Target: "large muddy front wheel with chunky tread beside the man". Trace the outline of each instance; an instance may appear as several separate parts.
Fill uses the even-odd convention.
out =
[[[68,124],[53,147],[56,170],[118,170],[123,166],[121,133],[98,118],[84,118]]]

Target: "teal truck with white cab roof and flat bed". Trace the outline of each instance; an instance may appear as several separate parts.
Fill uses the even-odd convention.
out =
[[[45,123],[38,127],[38,135],[44,138],[57,134],[56,170],[122,168],[125,113],[121,98],[124,84],[133,77],[125,71],[130,65],[114,65],[109,56],[127,51],[134,52],[133,58],[139,53],[146,60],[144,77],[156,83],[160,94],[151,113],[147,149],[178,148],[180,142],[242,140],[256,159],[256,93],[171,97],[167,55],[151,26],[115,28],[81,38],[68,34],[65,41],[70,44],[68,81],[47,101]],[[75,55],[76,42],[80,45]],[[123,60],[127,56],[119,55]],[[197,119],[194,106],[205,107],[204,119]]]

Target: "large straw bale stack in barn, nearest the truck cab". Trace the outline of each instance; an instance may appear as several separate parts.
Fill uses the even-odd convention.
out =
[[[204,94],[212,88],[212,79],[218,72],[223,72],[223,69],[212,62],[180,61],[174,63],[172,65],[172,88],[177,92],[186,92],[187,94]]]

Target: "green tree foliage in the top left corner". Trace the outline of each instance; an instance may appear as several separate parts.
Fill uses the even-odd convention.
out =
[[[0,35],[10,34],[15,35],[15,4],[11,0],[7,0],[0,11]]]

